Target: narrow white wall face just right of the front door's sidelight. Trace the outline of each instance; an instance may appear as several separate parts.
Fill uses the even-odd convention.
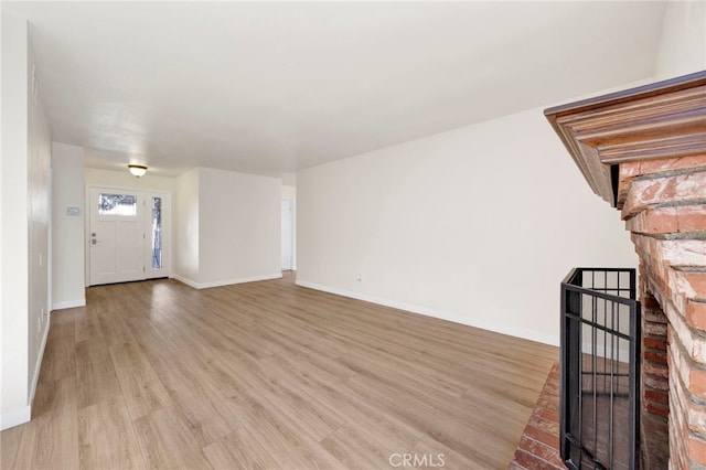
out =
[[[199,172],[179,177],[174,196],[174,277],[190,284],[199,279]]]

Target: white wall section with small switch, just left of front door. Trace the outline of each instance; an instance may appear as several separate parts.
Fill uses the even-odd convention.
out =
[[[86,305],[85,197],[84,148],[52,142],[52,310]]]

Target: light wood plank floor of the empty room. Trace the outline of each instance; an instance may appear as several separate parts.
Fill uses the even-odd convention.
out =
[[[1,434],[1,463],[504,469],[557,355],[292,274],[93,287],[52,313],[33,419]]]

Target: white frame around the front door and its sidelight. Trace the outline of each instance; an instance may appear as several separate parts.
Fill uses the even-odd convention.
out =
[[[173,211],[172,211],[172,192],[169,190],[153,190],[153,189],[143,189],[143,188],[129,188],[129,186],[117,186],[113,184],[97,184],[90,183],[86,184],[85,188],[85,210],[84,210],[84,285],[85,287],[90,287],[90,190],[92,189],[105,189],[110,191],[126,191],[126,192],[140,192],[143,194],[154,194],[162,195],[169,201],[168,211],[162,216],[162,226],[165,227],[164,232],[167,236],[163,238],[163,250],[167,254],[168,263],[164,267],[165,277],[173,277],[173,250],[172,250],[172,242],[173,242]],[[163,233],[164,233],[163,232]],[[147,248],[146,248],[147,250]]]

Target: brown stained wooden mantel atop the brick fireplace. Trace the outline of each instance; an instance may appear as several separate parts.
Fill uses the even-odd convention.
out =
[[[613,165],[704,154],[706,71],[553,107],[544,114],[593,192],[616,206]]]

